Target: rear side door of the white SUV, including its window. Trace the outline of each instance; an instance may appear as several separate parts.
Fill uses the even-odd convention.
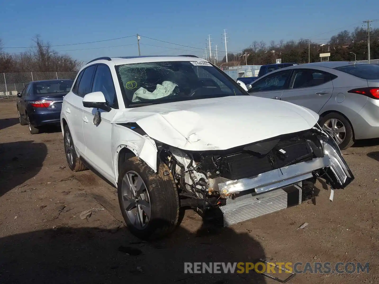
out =
[[[83,97],[89,92],[95,66],[83,69],[74,83],[72,91],[64,97],[62,111],[70,128],[75,150],[79,156],[84,156],[86,144],[83,134]]]

